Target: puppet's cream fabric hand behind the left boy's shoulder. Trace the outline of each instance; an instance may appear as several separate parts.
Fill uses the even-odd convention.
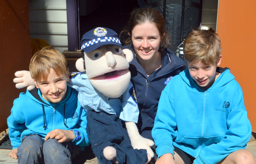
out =
[[[29,71],[17,71],[14,75],[16,78],[13,79],[13,82],[17,83],[15,85],[16,88],[20,89],[27,87],[28,90],[32,90],[36,87]]]

